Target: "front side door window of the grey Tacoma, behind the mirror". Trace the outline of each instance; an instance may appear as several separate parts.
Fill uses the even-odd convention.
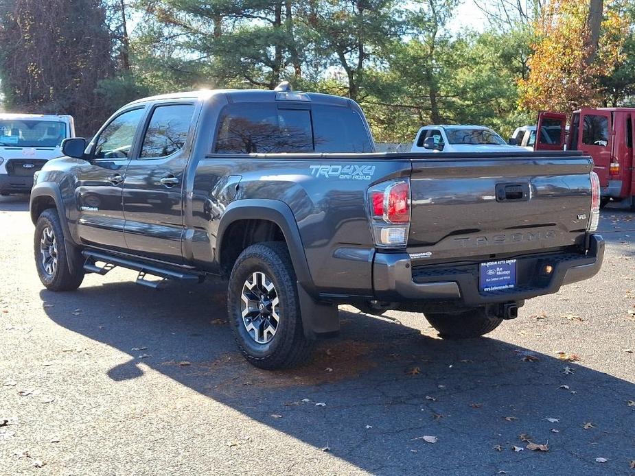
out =
[[[97,137],[94,158],[130,158],[132,141],[139,121],[143,117],[143,108],[133,109],[118,115]]]

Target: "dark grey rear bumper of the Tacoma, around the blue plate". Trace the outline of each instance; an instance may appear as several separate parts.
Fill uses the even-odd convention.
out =
[[[604,257],[604,239],[590,235],[586,254],[542,253],[518,258],[517,285],[482,293],[478,289],[478,264],[413,267],[407,253],[377,253],[373,264],[376,299],[384,301],[459,300],[467,306],[519,301],[551,294],[565,284],[588,279],[599,271]],[[540,273],[544,265],[553,272]]]

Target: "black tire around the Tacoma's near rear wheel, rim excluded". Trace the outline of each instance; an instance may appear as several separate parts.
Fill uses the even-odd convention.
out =
[[[266,343],[252,337],[242,317],[244,285],[254,273],[264,273],[275,286],[279,299],[277,329]],[[304,335],[297,279],[286,243],[256,243],[240,254],[229,276],[227,311],[235,341],[254,366],[267,370],[293,368],[310,357],[313,342]]]

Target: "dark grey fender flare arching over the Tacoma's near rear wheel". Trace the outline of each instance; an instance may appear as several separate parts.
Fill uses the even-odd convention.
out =
[[[286,203],[279,200],[246,198],[231,202],[231,204],[227,206],[227,209],[225,209],[222,214],[220,224],[218,225],[218,232],[216,233],[216,256],[218,257],[218,264],[220,265],[220,253],[222,251],[221,247],[225,231],[227,231],[227,228],[229,228],[231,224],[242,219],[266,220],[280,227],[289,248],[295,275],[299,283],[301,283],[310,294],[313,294],[313,278],[311,277],[309,265],[306,261],[306,254],[304,253],[304,246],[295,215],[293,215],[293,212]]]

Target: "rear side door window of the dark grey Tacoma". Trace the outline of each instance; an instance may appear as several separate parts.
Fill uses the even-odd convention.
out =
[[[194,104],[170,104],[154,108],[139,157],[167,157],[183,149],[192,114]]]

